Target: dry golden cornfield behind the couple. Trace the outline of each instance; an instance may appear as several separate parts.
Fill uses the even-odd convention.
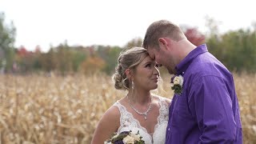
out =
[[[158,94],[171,98],[170,76]],[[234,74],[243,142],[256,143],[256,75]],[[126,91],[110,76],[0,75],[0,144],[90,143],[102,114]]]

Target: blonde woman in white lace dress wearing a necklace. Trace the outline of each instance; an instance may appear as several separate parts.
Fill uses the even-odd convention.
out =
[[[114,87],[128,90],[128,94],[103,114],[91,144],[104,143],[114,132],[129,130],[139,130],[146,144],[165,143],[170,99],[150,93],[158,88],[159,78],[158,64],[146,49],[134,47],[121,53]]]

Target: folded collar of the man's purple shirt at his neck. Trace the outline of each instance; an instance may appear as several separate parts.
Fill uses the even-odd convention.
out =
[[[183,74],[188,66],[190,66],[190,62],[194,60],[199,54],[208,52],[206,44],[202,44],[192,50],[186,58],[182,59],[182,62],[179,62],[178,65],[175,67],[177,70],[177,74]]]

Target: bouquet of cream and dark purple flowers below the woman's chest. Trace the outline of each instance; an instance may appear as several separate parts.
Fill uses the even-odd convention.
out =
[[[138,133],[133,134],[130,131],[122,131],[122,133],[114,133],[110,139],[106,140],[104,144],[145,144],[142,136]]]

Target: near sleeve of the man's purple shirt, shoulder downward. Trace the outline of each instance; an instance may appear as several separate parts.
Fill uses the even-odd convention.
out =
[[[198,78],[188,96],[190,111],[202,132],[198,143],[233,143],[236,123],[224,79],[218,76]]]

